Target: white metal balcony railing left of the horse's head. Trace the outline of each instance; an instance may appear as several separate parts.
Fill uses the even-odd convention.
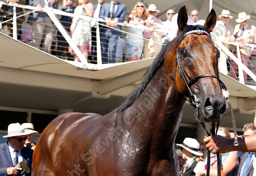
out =
[[[20,4],[17,4],[17,3],[6,4],[5,2],[2,2],[2,1],[0,1],[0,3],[2,3],[4,5],[9,5],[9,6],[13,6],[14,7],[13,8],[13,39],[17,40],[16,19],[21,17],[21,16],[28,15],[29,13],[32,13],[34,11],[37,11],[38,9],[37,9],[37,7],[34,7],[34,6],[20,5]],[[29,9],[29,10],[32,10],[32,11],[27,12],[27,13],[25,13],[23,15],[20,15],[20,16],[16,16],[16,10],[15,10],[16,7],[20,7],[20,8],[23,8],[23,9]],[[115,66],[115,65],[125,64],[125,62],[123,62],[123,63],[113,63],[113,64],[110,64],[111,66],[109,64],[102,64],[102,60],[101,60],[101,45],[100,45],[100,32],[99,32],[100,26],[105,26],[105,27],[108,27],[108,28],[113,29],[113,30],[118,30],[118,29],[115,29],[115,28],[112,28],[112,27],[109,27],[109,26],[106,26],[106,25],[100,23],[100,22],[105,22],[105,20],[100,19],[100,18],[99,19],[95,19],[95,18],[92,18],[92,17],[89,17],[89,16],[77,15],[77,14],[73,14],[73,13],[67,13],[67,12],[63,12],[63,11],[58,10],[58,9],[49,8],[47,6],[45,6],[41,10],[43,10],[43,12],[46,12],[48,14],[48,16],[52,19],[52,22],[59,29],[59,31],[62,34],[62,36],[65,38],[65,40],[67,41],[69,46],[74,50],[74,52],[76,53],[76,55],[79,57],[79,59],[81,61],[81,63],[73,63],[72,61],[69,61],[69,60],[66,60],[66,62],[75,64],[76,66],[82,64],[84,68],[87,68],[87,69],[90,69],[90,70],[98,70],[98,69],[102,69],[102,68],[106,68],[106,67],[111,67],[111,66]],[[67,33],[66,29],[64,29],[64,27],[62,26],[62,24],[60,23],[60,21],[56,17],[56,15],[63,15],[63,16],[70,16],[70,17],[79,17],[81,19],[85,19],[85,20],[88,20],[88,21],[92,21],[92,20],[95,21],[95,23],[96,23],[96,43],[97,43],[97,64],[90,64],[89,63],[90,61],[88,62],[87,58],[85,58],[83,56],[83,54],[80,52],[80,50],[78,49],[76,44],[73,42],[73,40],[71,39],[71,37]],[[10,19],[10,20],[12,20],[12,19]],[[4,21],[4,22],[8,22],[10,20]],[[4,22],[2,22],[2,23],[4,23]],[[124,26],[124,24],[121,23],[121,22],[119,22],[118,25]],[[149,29],[149,30],[152,30],[151,28],[147,28],[145,26],[136,26],[136,25],[132,25],[132,24],[127,24],[126,26],[127,27],[133,27],[133,28],[139,28],[139,29]],[[155,31],[164,31],[164,32],[168,33],[167,30],[163,30],[163,29],[156,29]],[[121,30],[120,30],[120,32],[127,33],[126,31],[121,31]],[[134,34],[130,34],[130,35],[134,35]],[[143,38],[143,37],[141,37],[141,38]],[[143,38],[143,39],[144,40],[149,40],[149,39],[146,39],[146,38]],[[156,42],[156,43],[158,43],[158,42]],[[162,44],[162,43],[159,43],[159,44]]]

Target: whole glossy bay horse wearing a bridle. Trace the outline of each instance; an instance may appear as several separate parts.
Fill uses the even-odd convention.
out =
[[[219,80],[219,50],[204,26],[178,14],[177,37],[162,47],[122,104],[105,116],[66,113],[43,131],[33,155],[33,176],[179,175],[174,140],[188,97],[206,122],[226,109]]]

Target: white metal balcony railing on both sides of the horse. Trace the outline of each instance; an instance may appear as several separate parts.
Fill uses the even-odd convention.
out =
[[[28,15],[29,13],[32,13],[34,11],[37,11],[37,7],[34,7],[34,6],[29,6],[29,5],[20,5],[20,4],[17,4],[17,3],[9,3],[9,4],[6,4],[5,2],[2,2],[0,1],[0,4],[4,4],[4,5],[10,5],[10,6],[13,6],[13,39],[17,40],[17,27],[16,27],[16,19],[17,18],[20,18],[21,16],[26,16]],[[31,11],[27,12],[27,13],[24,13],[23,15],[18,15],[16,16],[16,7],[20,7],[20,8],[23,8],[23,9],[29,9]],[[46,12],[48,14],[48,16],[52,19],[52,22],[55,24],[55,26],[57,27],[57,29],[59,29],[60,33],[62,34],[62,36],[65,38],[65,40],[67,41],[67,43],[69,44],[69,46],[74,50],[74,52],[77,54],[77,56],[79,57],[79,59],[81,60],[81,62],[77,63],[77,62],[73,62],[73,61],[69,61],[69,60],[65,60],[66,62],[69,62],[70,64],[73,64],[73,65],[76,65],[78,67],[82,67],[82,68],[86,68],[86,69],[90,69],[90,70],[98,70],[98,69],[103,69],[103,68],[107,68],[107,67],[112,67],[112,66],[116,66],[116,65],[120,65],[120,64],[126,64],[126,62],[122,62],[122,63],[112,63],[112,64],[102,64],[102,60],[101,60],[101,45],[100,45],[100,28],[102,26],[105,26],[105,27],[108,27],[110,29],[113,29],[113,30],[118,30],[118,29],[115,29],[115,28],[111,28],[109,26],[106,26],[104,24],[101,24],[100,22],[105,22],[105,20],[103,19],[95,19],[95,18],[92,18],[92,17],[88,17],[88,16],[83,16],[83,15],[76,15],[76,14],[73,14],[73,13],[67,13],[67,12],[63,12],[61,10],[58,10],[58,9],[52,9],[52,8],[49,8],[49,7],[44,7],[42,8],[43,12]],[[67,33],[66,29],[62,26],[62,24],[60,23],[59,19],[56,17],[56,15],[62,15],[62,16],[70,16],[70,17],[79,17],[81,19],[85,19],[85,20],[88,20],[88,21],[95,21],[96,23],[96,43],[97,43],[97,64],[91,64],[88,62],[87,58],[85,58],[83,56],[83,54],[80,52],[80,50],[78,49],[78,47],[76,46],[76,44],[73,42],[73,40],[71,39],[70,35]],[[5,22],[8,22],[12,19],[9,19]],[[4,22],[1,22],[1,23],[4,23]],[[118,23],[118,25],[121,25],[121,26],[124,26],[123,23]],[[126,25],[127,27],[132,27],[132,28],[137,28],[137,29],[149,29],[149,30],[152,30],[151,28],[147,28],[145,26],[136,26],[136,25],[132,25],[132,24],[127,24]],[[122,33],[127,33],[126,31],[122,31],[122,30],[119,30],[120,32]],[[165,33],[168,33],[169,31],[167,30],[163,30],[163,29],[157,29],[155,31],[162,31],[162,32],[165,32]],[[130,34],[130,33],[128,33]],[[134,35],[134,34],[130,34],[130,35]],[[137,37],[140,37],[140,36],[137,36]],[[143,38],[143,37],[141,37]],[[149,39],[146,39],[146,38],[143,38],[144,40],[149,40]],[[155,42],[155,41],[154,41]],[[240,49],[239,47],[242,47],[242,46],[239,46],[237,42],[232,42],[232,43],[229,43],[229,42],[226,42],[226,41],[221,41],[221,40],[215,40],[214,41],[215,44],[217,44],[236,64],[238,64],[238,74],[239,74],[239,81],[240,83],[242,84],[245,84],[244,82],[244,75],[243,75],[243,71],[245,71],[255,82],[256,82],[256,76],[254,73],[252,73],[242,62],[241,62],[241,57],[240,57]],[[229,49],[227,49],[221,42],[223,43],[228,43],[228,44],[231,44],[231,45],[235,45],[236,46],[236,50],[237,50],[237,57],[234,56],[233,53],[231,53],[229,51]],[[158,42],[155,42],[155,43],[158,43]],[[162,43],[158,43],[158,44],[161,44],[163,45]],[[243,47],[256,47],[256,45],[253,45],[253,44],[246,44],[245,46]],[[251,49],[251,48],[250,48]],[[145,59],[148,59],[148,58],[145,58]],[[136,62],[136,61],[131,61],[131,62]],[[230,68],[231,69],[231,68]]]

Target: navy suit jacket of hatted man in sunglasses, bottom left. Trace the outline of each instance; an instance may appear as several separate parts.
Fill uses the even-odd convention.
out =
[[[21,150],[21,155],[23,157],[23,162],[30,168],[32,167],[32,155],[33,150],[23,147]],[[7,176],[6,169],[7,167],[13,167],[12,158],[8,147],[8,142],[0,144],[0,176]],[[26,174],[26,176],[30,176]]]

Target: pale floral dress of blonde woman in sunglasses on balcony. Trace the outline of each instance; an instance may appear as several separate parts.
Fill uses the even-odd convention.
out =
[[[134,16],[134,22],[139,22],[141,18]],[[140,25],[137,25],[140,26]],[[143,26],[143,25],[141,25]],[[138,60],[141,58],[143,51],[144,40],[140,37],[143,37],[144,29],[131,28],[128,27],[127,32],[132,33],[136,36],[126,34],[126,60],[129,60],[130,57],[136,57]],[[137,37],[140,36],[140,37]]]

